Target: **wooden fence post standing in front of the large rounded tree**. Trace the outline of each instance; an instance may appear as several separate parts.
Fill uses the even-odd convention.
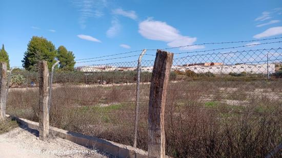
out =
[[[48,110],[48,66],[47,61],[38,62],[39,70],[39,139],[45,140],[49,135]]]

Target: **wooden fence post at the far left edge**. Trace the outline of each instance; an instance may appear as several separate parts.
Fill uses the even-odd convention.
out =
[[[0,62],[0,121],[6,118],[6,102],[7,102],[7,63]]]

